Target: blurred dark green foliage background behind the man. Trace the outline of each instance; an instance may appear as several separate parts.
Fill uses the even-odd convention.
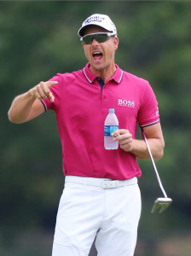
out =
[[[38,82],[85,66],[77,32],[95,13],[117,26],[119,67],[152,85],[165,137],[156,166],[173,203],[162,214],[151,213],[163,195],[151,162],[138,160],[142,218],[135,256],[191,255],[190,11],[189,1],[0,3],[1,255],[51,255],[64,182],[55,113],[22,125],[10,123],[7,113],[14,97]]]

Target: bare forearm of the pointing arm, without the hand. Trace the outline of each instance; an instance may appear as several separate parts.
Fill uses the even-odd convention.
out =
[[[9,109],[9,120],[16,124],[25,122],[35,100],[29,91],[17,96]]]

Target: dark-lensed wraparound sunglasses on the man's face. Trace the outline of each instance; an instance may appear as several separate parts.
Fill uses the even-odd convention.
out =
[[[82,41],[84,44],[91,44],[95,39],[98,43],[103,43],[106,42],[112,36],[116,36],[116,34],[106,32],[93,33],[80,38],[80,41]]]

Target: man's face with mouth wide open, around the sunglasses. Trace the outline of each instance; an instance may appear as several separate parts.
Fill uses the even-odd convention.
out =
[[[100,26],[87,26],[84,35],[107,32]],[[98,43],[96,39],[90,44],[83,44],[85,55],[90,61],[92,71],[101,71],[114,63],[114,53],[118,49],[119,38],[110,37],[106,42]]]

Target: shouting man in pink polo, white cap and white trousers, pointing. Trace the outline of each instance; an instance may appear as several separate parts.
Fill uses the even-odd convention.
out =
[[[114,62],[117,30],[107,15],[91,15],[78,30],[88,64],[58,73],[14,99],[14,123],[55,110],[63,152],[65,189],[58,209],[53,256],[85,256],[96,237],[100,256],[132,256],[141,214],[136,157],[149,160],[141,125],[153,158],[163,155],[158,103],[148,81],[126,73]],[[104,148],[104,120],[114,108],[117,150]],[[119,137],[115,135],[119,134]]]

